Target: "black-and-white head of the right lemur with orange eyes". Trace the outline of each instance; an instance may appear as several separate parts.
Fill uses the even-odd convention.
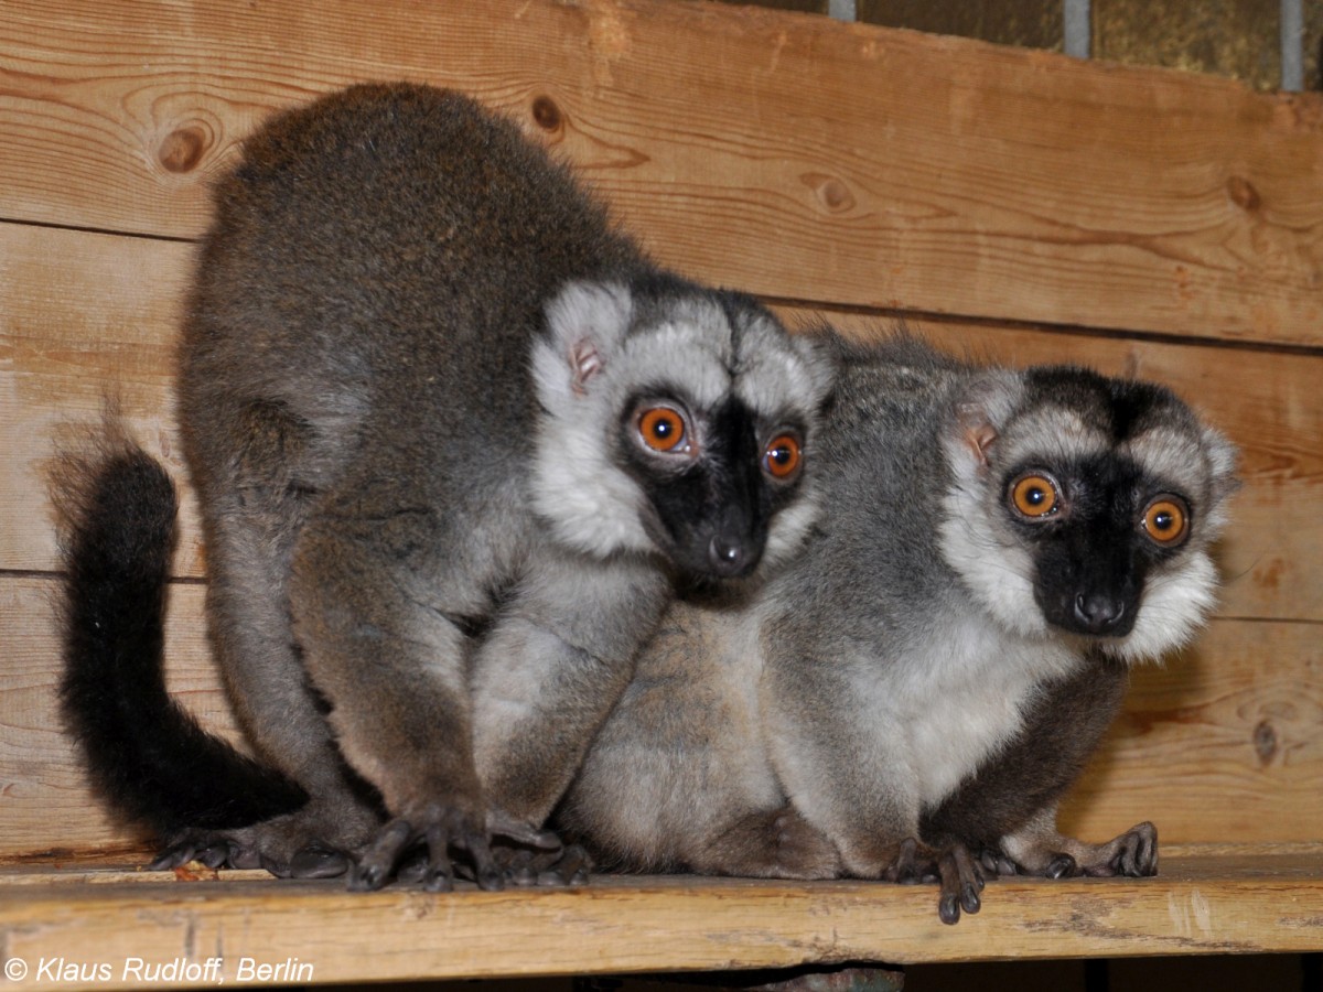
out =
[[[979,454],[949,500],[966,526],[947,525],[945,550],[1003,622],[1127,660],[1181,644],[1203,622],[1234,454],[1168,390],[1032,369]]]

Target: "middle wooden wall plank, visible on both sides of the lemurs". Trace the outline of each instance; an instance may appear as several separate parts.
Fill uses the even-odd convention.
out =
[[[107,388],[148,448],[183,480],[171,393],[175,327],[192,247],[0,224],[0,569],[54,566],[44,472],[70,419],[94,422]],[[803,311],[787,311],[792,321]],[[828,315],[855,333],[885,321]],[[1323,357],[1225,351],[964,323],[916,321],[957,353],[1011,364],[1080,361],[1168,382],[1245,454],[1245,487],[1221,548],[1222,611],[1323,619]],[[200,574],[187,489],[179,569]]]

